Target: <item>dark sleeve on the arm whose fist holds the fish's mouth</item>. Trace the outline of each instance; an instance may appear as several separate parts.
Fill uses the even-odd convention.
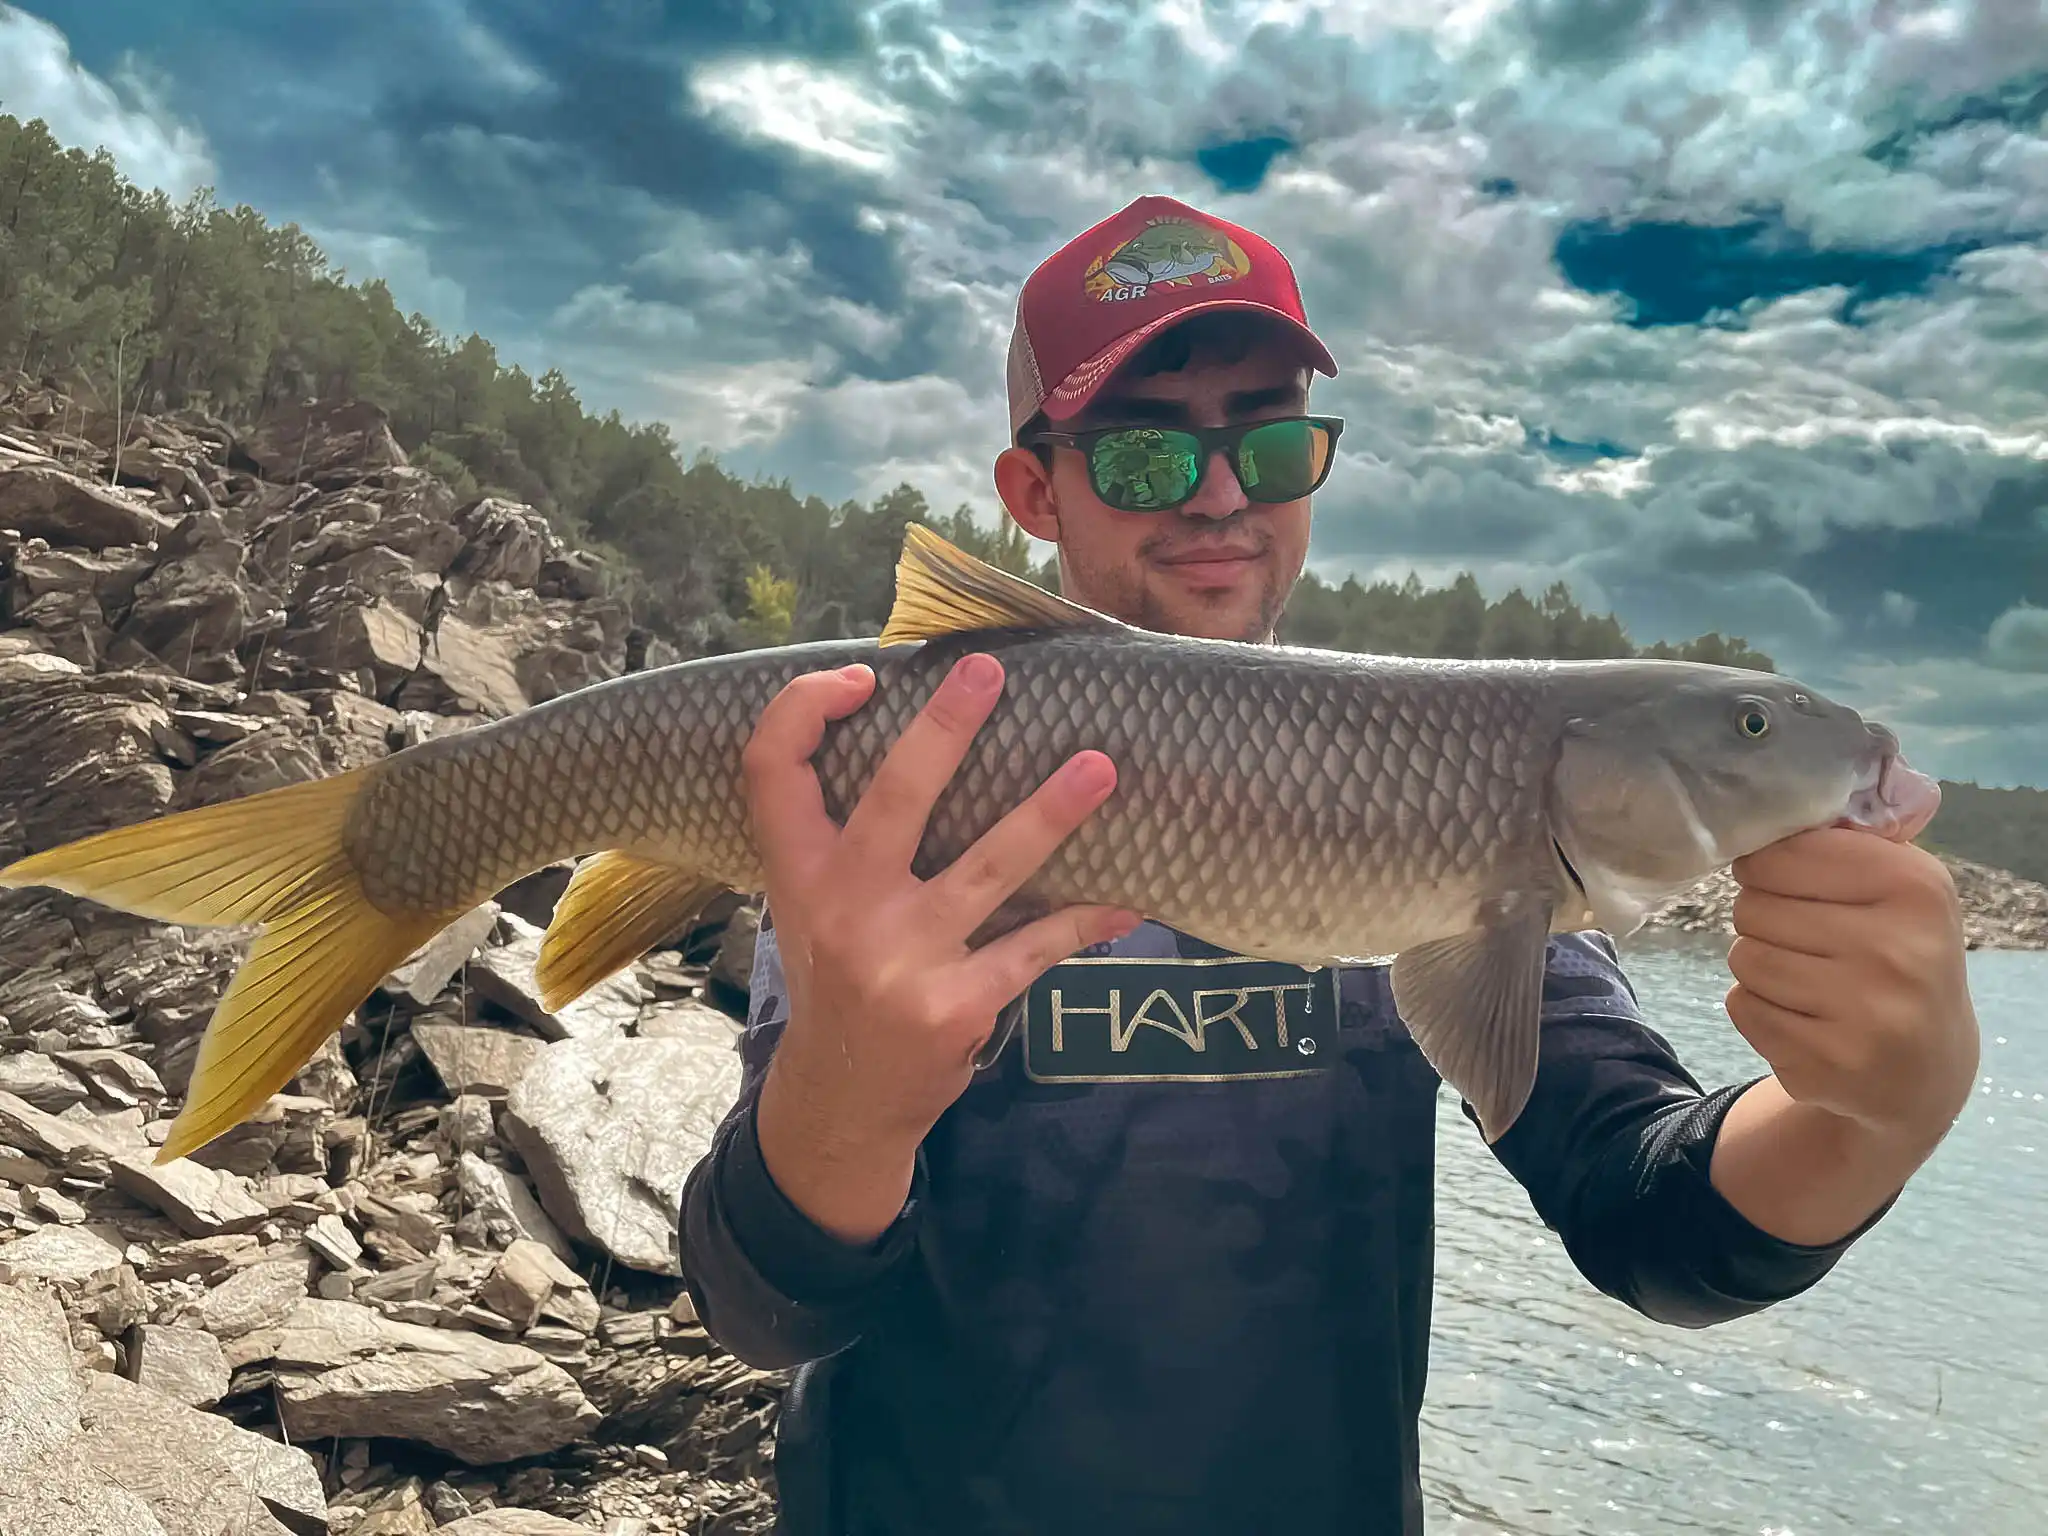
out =
[[[1536,1087],[1493,1153],[1616,1300],[1681,1327],[1743,1317],[1815,1286],[1890,1210],[1823,1247],[1743,1217],[1708,1169],[1729,1106],[1761,1079],[1704,1092],[1645,1024],[1606,934],[1550,940],[1542,1014]]]

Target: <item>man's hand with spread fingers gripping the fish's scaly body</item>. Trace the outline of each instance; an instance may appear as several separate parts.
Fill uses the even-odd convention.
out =
[[[1042,971],[1137,926],[1067,907],[979,950],[967,938],[1116,786],[1075,754],[950,868],[911,856],[938,795],[1001,692],[1001,666],[963,657],[891,748],[840,829],[811,754],[874,688],[868,668],[791,682],[762,713],[743,770],[788,983],[756,1126],[788,1200],[850,1243],[881,1235],[909,1194],[918,1143],[973,1077],[995,1016]]]

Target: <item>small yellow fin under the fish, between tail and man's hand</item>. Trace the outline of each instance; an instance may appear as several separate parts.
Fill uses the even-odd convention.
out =
[[[618,850],[586,858],[541,938],[532,975],[541,1008],[551,1014],[567,1008],[690,922],[723,889],[686,868]]]

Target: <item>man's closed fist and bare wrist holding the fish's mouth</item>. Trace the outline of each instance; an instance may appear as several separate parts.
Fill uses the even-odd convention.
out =
[[[1774,1077],[1729,1112],[1716,1188],[1831,1243],[1935,1149],[1976,1081],[1956,889],[1933,854],[1825,827],[1735,864],[1726,1010]]]

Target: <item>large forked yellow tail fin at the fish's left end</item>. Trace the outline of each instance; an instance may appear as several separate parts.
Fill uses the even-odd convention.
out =
[[[207,1022],[156,1161],[256,1110],[393,967],[461,915],[393,918],[371,905],[342,846],[365,772],[102,831],[0,868],[0,887],[47,885],[160,922],[262,926]]]

